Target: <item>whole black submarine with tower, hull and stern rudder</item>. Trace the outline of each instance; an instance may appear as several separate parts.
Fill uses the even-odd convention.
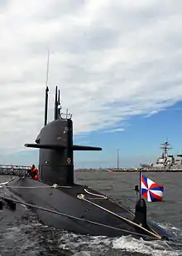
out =
[[[12,192],[11,197],[3,194],[1,199],[7,204],[11,201],[24,204],[43,224],[75,234],[108,237],[132,234],[137,238],[174,241],[172,234],[147,219],[145,199],[139,198],[132,211],[106,194],[74,183],[74,150],[102,148],[73,144],[72,116],[60,111],[58,86],[54,120],[47,123],[48,97],[46,86],[44,126],[35,143],[25,145],[39,150],[39,179],[29,175],[13,178],[5,185]]]

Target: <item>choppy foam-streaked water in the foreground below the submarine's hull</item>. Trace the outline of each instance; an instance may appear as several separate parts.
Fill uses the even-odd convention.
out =
[[[20,206],[22,207],[22,206]],[[22,207],[23,208],[23,207]],[[19,209],[20,210],[20,209]],[[92,237],[61,232],[40,224],[36,214],[28,209],[21,209],[22,217],[12,219],[12,215],[4,215],[3,229],[0,239],[1,254],[13,255],[65,255],[65,256],[119,256],[119,255],[157,255],[180,256],[182,248],[170,246],[165,241],[145,241],[135,239],[131,235],[121,238]],[[169,231],[182,234],[182,230],[164,224]]]

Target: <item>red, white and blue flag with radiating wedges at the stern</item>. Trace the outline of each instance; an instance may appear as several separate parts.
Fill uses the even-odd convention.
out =
[[[148,202],[162,201],[164,190],[162,185],[156,184],[141,174],[141,196],[145,197]]]

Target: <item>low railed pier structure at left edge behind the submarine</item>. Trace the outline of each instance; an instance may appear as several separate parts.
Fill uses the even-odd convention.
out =
[[[0,175],[26,175],[31,166],[0,165]]]

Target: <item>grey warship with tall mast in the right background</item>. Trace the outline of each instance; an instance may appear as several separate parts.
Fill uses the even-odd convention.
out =
[[[141,164],[142,170],[182,170],[182,155],[169,155],[172,149],[168,140],[161,144],[162,154],[157,158],[156,163],[151,165]]]

